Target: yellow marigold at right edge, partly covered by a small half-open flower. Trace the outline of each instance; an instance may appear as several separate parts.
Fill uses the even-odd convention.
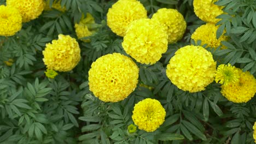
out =
[[[220,91],[224,97],[234,103],[246,103],[256,93],[256,80],[248,71],[243,72],[238,70],[240,75],[239,79],[235,83],[229,83],[228,85],[222,85],[222,91]]]

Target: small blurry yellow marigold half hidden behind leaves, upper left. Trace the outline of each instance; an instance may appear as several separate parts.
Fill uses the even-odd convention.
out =
[[[78,24],[75,23],[75,33],[77,33],[78,39],[84,42],[89,42],[90,40],[82,38],[89,37],[90,35],[95,33],[94,29],[90,28],[90,25],[94,23],[94,17],[92,17],[92,15],[89,13],[87,13],[86,17],[82,19]]]

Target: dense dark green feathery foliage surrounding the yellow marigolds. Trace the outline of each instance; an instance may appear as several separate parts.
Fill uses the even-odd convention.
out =
[[[178,9],[187,22],[184,38],[168,45],[156,64],[137,63],[139,83],[125,100],[104,103],[89,91],[91,63],[107,53],[125,54],[123,38],[106,25],[107,11],[114,2],[62,0],[65,12],[44,11],[38,19],[24,23],[16,35],[0,37],[0,143],[254,143],[255,97],[247,103],[232,103],[215,82],[205,91],[188,93],[166,76],[166,65],[180,47],[200,44],[190,40],[204,23],[194,14],[193,0],[141,0],[149,17],[159,8]],[[222,42],[225,50],[207,50],[217,64],[230,63],[256,77],[255,1],[220,0],[216,4],[225,7],[225,14],[218,16],[222,21],[217,23],[217,37],[225,29],[230,39]],[[42,61],[45,44],[61,33],[76,38],[74,23],[83,13],[91,13],[100,29],[89,37],[90,43],[78,40],[82,59],[75,69],[48,79]],[[13,65],[4,63],[8,59],[14,60]],[[131,135],[127,126],[133,123],[133,106],[145,98],[161,102],[165,122],[153,133],[137,130]]]

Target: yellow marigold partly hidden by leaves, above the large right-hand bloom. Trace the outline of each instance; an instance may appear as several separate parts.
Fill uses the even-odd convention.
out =
[[[202,25],[195,30],[195,32],[191,35],[191,39],[195,41],[201,40],[201,45],[207,44],[210,47],[217,48],[218,46],[222,46],[220,43],[221,41],[228,40],[228,37],[224,36],[223,34],[216,39],[218,26],[215,26],[212,23],[206,23],[206,25]],[[225,49],[224,46],[221,49]]]

